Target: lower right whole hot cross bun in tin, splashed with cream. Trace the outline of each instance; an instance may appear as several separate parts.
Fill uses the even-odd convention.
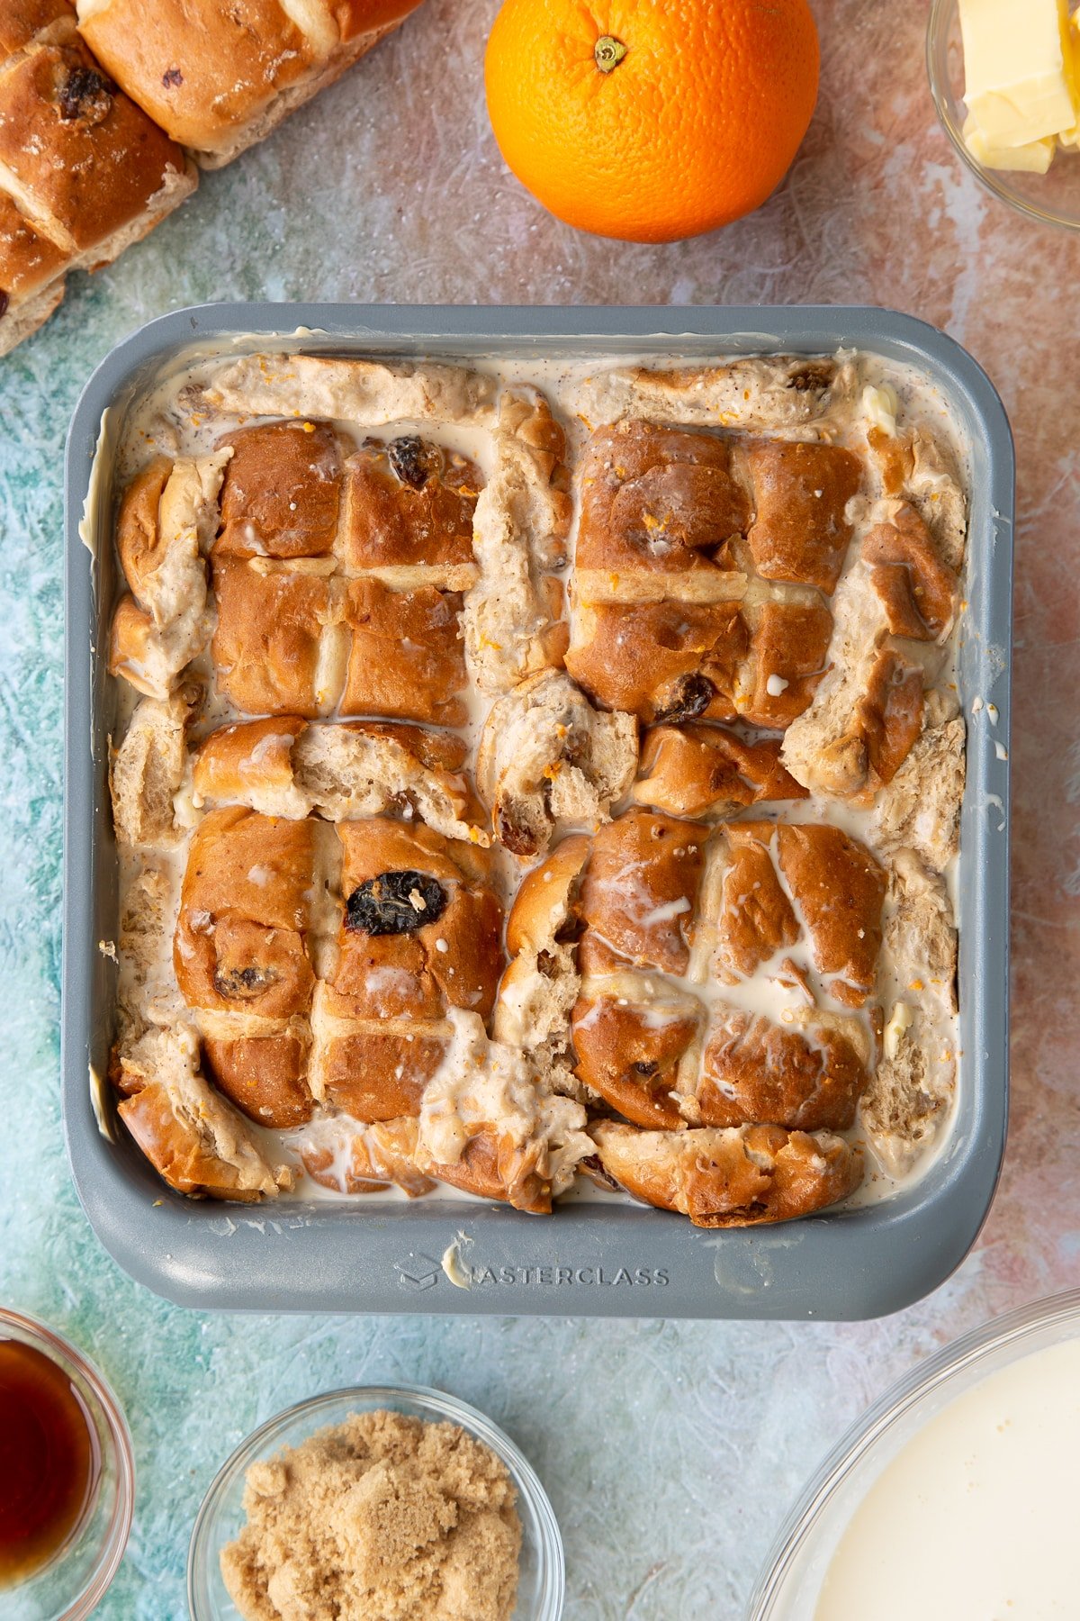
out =
[[[824,823],[630,810],[602,827],[575,901],[578,1078],[649,1128],[850,1127],[884,890],[870,851]],[[510,984],[526,971],[521,953]]]

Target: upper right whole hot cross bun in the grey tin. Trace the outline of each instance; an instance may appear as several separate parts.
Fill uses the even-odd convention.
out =
[[[784,728],[827,668],[861,464],[628,418],[581,468],[567,669],[644,721]]]

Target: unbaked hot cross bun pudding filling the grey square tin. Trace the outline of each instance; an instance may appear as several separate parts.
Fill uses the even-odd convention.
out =
[[[112,1080],[172,1187],[727,1227],[920,1172],[967,503],[913,373],[219,358],[120,468]]]

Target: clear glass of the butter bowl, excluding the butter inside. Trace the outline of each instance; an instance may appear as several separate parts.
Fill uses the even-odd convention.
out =
[[[1043,225],[1080,230],[1080,151],[1059,152],[1044,175],[986,169],[963,141],[963,47],[959,0],[933,0],[926,24],[926,71],[938,117],[962,162],[988,191]]]

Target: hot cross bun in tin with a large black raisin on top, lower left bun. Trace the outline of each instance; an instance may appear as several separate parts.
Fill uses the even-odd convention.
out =
[[[415,1115],[447,1010],[489,1018],[502,969],[489,858],[423,823],[209,810],[189,846],[173,966],[207,1067],[261,1125],[316,1102]]]

